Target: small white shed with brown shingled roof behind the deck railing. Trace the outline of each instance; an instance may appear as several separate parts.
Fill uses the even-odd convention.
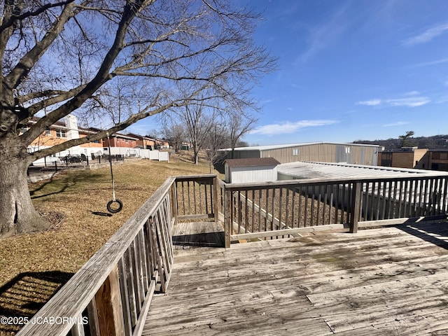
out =
[[[277,165],[274,158],[248,158],[225,160],[227,183],[270,182],[277,180]]]

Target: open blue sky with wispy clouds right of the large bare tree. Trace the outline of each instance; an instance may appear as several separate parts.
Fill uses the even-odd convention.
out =
[[[448,134],[447,0],[247,2],[265,17],[255,41],[279,57],[253,90],[249,144]]]

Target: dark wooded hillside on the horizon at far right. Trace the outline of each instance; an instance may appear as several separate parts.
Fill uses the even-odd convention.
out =
[[[417,146],[419,148],[448,148],[448,134],[434,135],[432,137],[412,137],[409,138],[409,143],[412,146]],[[384,146],[386,151],[391,149],[401,148],[401,140],[396,139],[386,139],[386,140],[356,140],[353,144],[370,144]]]

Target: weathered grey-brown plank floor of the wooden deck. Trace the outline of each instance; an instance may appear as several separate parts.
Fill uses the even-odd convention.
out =
[[[143,335],[448,335],[448,225],[176,251]]]

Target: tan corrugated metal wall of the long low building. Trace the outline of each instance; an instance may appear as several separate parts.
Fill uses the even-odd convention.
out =
[[[378,150],[379,148],[372,146],[350,144],[307,144],[260,151],[260,158],[274,158],[280,163],[310,161],[377,165]]]

